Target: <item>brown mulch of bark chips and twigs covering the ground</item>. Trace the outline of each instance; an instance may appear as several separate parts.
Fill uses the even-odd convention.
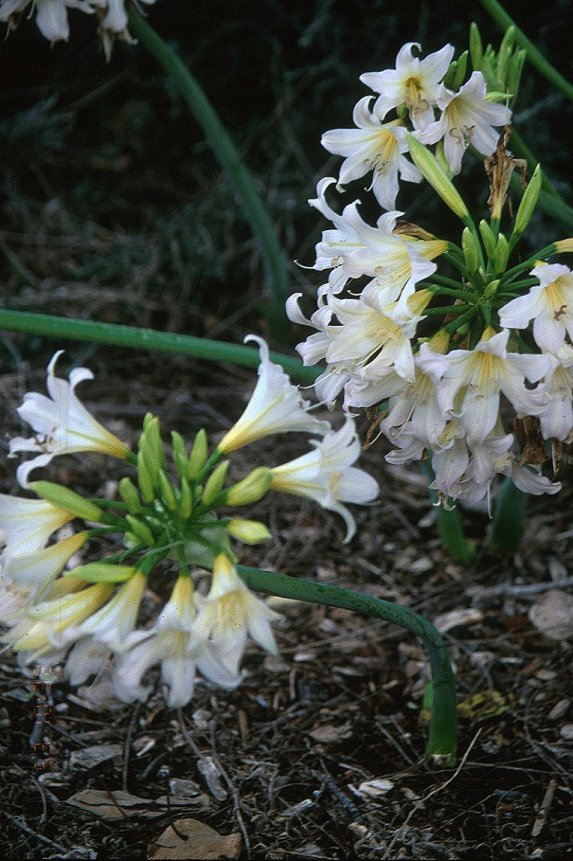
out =
[[[133,360],[126,374],[114,355],[105,376],[91,364],[96,380],[85,384],[84,398],[117,432],[134,434],[154,409],[165,430],[190,436],[206,423],[216,438],[229,422],[228,404],[238,415],[253,379],[171,359]],[[22,387],[41,381],[40,374],[5,377],[3,400],[17,404]],[[14,419],[11,411],[12,433]],[[294,442],[284,443],[281,459],[288,459]],[[167,709],[160,691],[143,704],[98,710],[85,689],[56,684],[39,726],[39,686],[4,652],[0,815],[11,857],[573,854],[572,649],[566,639],[542,636],[528,618],[549,588],[565,582],[570,591],[571,488],[531,501],[523,549],[507,558],[483,549],[487,515],[465,511],[467,531],[482,549],[463,566],[448,560],[436,538],[419,474],[390,468],[383,453],[377,443],[364,455],[382,493],[356,512],[350,545],[342,543],[339,519],[271,496],[257,515],[275,540],[248,549],[242,561],[350,586],[432,620],[473,610],[447,617],[452,627],[444,622],[460,703],[457,766],[424,761],[428,668],[421,643],[344,610],[281,606],[280,657],[249,648],[237,690],[199,684],[181,711]],[[253,458],[276,459],[270,442],[237,455],[239,472]],[[87,470],[85,460],[61,463],[59,477],[91,493],[114,480],[97,458]],[[13,468],[2,468],[4,492]],[[46,744],[41,757],[31,751],[38,738]]]

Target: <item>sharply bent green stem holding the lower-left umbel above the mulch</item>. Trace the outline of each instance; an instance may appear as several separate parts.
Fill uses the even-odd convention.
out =
[[[431,622],[407,607],[398,607],[389,601],[361,595],[359,592],[343,589],[341,586],[299,580],[285,574],[248,568],[245,565],[238,565],[237,571],[249,588],[259,592],[307,601],[311,604],[343,607],[362,616],[384,619],[420,637],[426,648],[432,671],[433,705],[426,756],[435,757],[442,764],[445,762],[453,765],[457,741],[455,680],[446,644]]]

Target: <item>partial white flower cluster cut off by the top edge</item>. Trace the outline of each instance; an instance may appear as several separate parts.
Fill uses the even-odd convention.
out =
[[[142,2],[150,4],[155,0]],[[116,39],[130,44],[134,42],[128,29],[125,0],[0,0],[0,21],[14,30],[28,7],[35,9],[36,24],[51,44],[69,39],[68,9],[96,14],[98,34],[108,60]]]

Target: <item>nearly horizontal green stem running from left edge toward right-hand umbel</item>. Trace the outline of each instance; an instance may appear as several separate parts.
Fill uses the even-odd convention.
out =
[[[76,320],[55,317],[51,314],[32,314],[28,311],[7,311],[0,308],[0,330],[26,332],[45,338],[71,341],[88,341],[92,344],[108,344],[113,347],[128,347],[131,350],[152,350],[174,353],[179,356],[194,356],[210,362],[231,362],[245,368],[259,366],[259,351],[242,344],[228,344],[208,338],[178,335],[173,332],[158,332],[155,329],[139,329],[117,323],[98,323],[92,320]],[[290,376],[300,383],[313,383],[320,369],[305,368],[298,359],[282,353],[271,352],[271,359],[281,365]]]

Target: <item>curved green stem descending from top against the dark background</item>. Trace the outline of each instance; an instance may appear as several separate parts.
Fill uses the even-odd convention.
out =
[[[179,88],[185,104],[201,125],[209,146],[235,186],[253,233],[257,237],[268,279],[268,323],[271,334],[285,340],[290,329],[284,304],[289,288],[284,255],[274,232],[271,216],[253,178],[205,93],[176,51],[140,15],[129,11],[129,27]]]

